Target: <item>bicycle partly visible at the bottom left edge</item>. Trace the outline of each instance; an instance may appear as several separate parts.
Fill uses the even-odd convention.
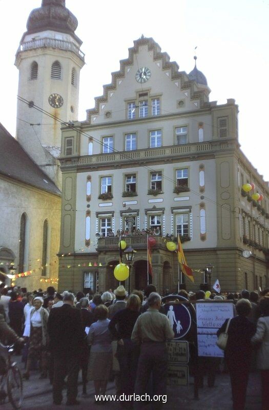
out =
[[[14,344],[5,346],[0,343],[0,404],[6,398],[13,408],[19,409],[23,403],[23,378],[17,363],[12,360]]]

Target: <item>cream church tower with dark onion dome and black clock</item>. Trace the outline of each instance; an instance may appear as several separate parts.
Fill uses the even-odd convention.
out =
[[[58,186],[61,124],[55,117],[64,123],[77,120],[79,74],[85,64],[75,34],[77,19],[65,3],[42,0],[41,7],[31,11],[15,59],[16,138]]]

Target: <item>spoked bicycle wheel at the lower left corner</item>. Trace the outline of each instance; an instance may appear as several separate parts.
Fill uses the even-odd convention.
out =
[[[17,366],[8,370],[7,392],[13,408],[20,408],[23,403],[23,378]]]

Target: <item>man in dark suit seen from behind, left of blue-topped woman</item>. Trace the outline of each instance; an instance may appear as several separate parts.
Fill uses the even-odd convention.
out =
[[[53,402],[61,404],[63,386],[67,378],[67,405],[79,404],[77,401],[77,378],[79,354],[85,339],[81,313],[74,309],[74,295],[70,292],[63,297],[63,306],[52,309],[48,320],[50,351],[53,355]]]

